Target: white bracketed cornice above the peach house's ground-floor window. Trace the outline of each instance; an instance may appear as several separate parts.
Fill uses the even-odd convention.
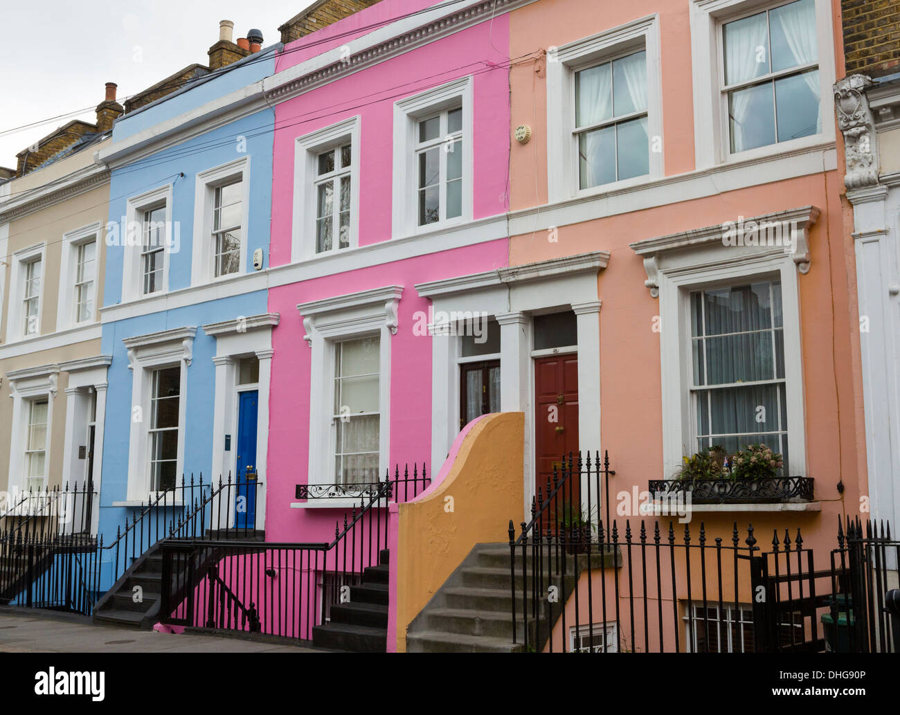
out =
[[[647,273],[647,280],[644,281],[644,285],[650,289],[650,295],[653,298],[659,298],[660,273],[663,270],[661,264],[665,256],[690,250],[714,248],[716,244],[718,244],[721,251],[730,252],[723,255],[722,263],[745,258],[748,255],[764,256],[783,253],[790,255],[794,263],[797,264],[799,273],[809,273],[809,228],[818,218],[819,210],[815,206],[803,206],[797,209],[776,211],[775,213],[767,213],[745,219],[738,217],[734,221],[726,221],[722,224],[680,231],[668,236],[647,238],[644,241],[636,241],[633,244],[629,244],[629,247],[637,255],[644,258],[644,271]],[[742,223],[743,227],[753,225],[754,228],[751,229],[753,235],[756,234],[756,229],[760,227],[774,225],[784,227],[788,225],[790,229],[789,245],[783,245],[783,237],[780,235],[779,240],[782,243],[773,243],[768,237],[765,237],[765,234],[763,234],[764,237],[759,242],[755,242],[754,239],[753,244],[746,246],[743,244],[743,236],[740,244],[735,243],[732,245],[728,243],[731,240],[728,238],[729,232],[742,228]],[[742,230],[745,229],[742,228]],[[734,248],[737,247],[740,247],[742,250],[735,252]]]

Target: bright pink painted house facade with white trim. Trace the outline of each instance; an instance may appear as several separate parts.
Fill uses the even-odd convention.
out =
[[[290,43],[272,78],[297,95],[275,106],[270,541],[333,538],[354,485],[437,471],[459,431],[457,398],[432,442],[450,338],[416,285],[508,263],[509,33],[506,13],[429,4],[383,0]]]

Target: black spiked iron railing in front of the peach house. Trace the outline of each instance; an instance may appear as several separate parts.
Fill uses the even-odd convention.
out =
[[[509,522],[514,643],[538,652],[896,652],[900,590],[889,587],[900,541],[889,527],[840,527],[829,564],[799,529],[773,532],[764,548],[752,525],[712,534],[703,522],[595,524],[590,495],[582,487],[578,497],[579,465],[563,460],[518,537]],[[602,483],[606,456],[598,471]]]

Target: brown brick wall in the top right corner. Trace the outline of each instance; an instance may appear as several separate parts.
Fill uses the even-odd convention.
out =
[[[900,0],[842,0],[848,75],[900,72]]]

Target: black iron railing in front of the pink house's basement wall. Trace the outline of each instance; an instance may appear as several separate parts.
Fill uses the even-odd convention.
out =
[[[311,640],[330,607],[347,601],[365,568],[383,564],[394,501],[428,486],[426,469],[395,469],[363,492],[326,542],[172,538],[161,549],[160,620],[171,625]],[[342,495],[347,498],[347,495]],[[316,498],[316,497],[308,497]],[[328,498],[328,497],[319,497]]]

